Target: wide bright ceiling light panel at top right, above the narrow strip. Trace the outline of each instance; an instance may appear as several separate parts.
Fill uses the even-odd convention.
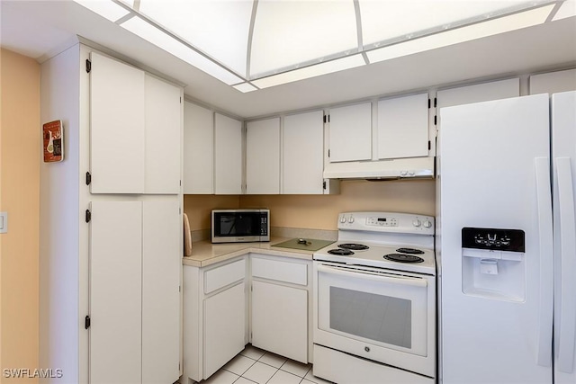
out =
[[[534,6],[537,1],[514,0],[358,0],[364,46],[408,40],[480,21],[503,12]]]

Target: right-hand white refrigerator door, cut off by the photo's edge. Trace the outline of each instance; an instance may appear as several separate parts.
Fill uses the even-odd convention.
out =
[[[552,96],[554,158],[554,378],[576,382],[576,92]]]

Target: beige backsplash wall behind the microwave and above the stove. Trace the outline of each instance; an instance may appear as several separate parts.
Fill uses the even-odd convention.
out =
[[[192,230],[210,228],[213,208],[269,208],[272,227],[337,229],[338,213],[383,210],[435,215],[434,180],[343,181],[337,195],[243,195],[184,197]]]

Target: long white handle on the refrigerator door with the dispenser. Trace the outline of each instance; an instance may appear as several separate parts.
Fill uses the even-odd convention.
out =
[[[548,157],[536,157],[535,167],[538,243],[540,244],[540,298],[536,363],[549,367],[552,363],[554,310],[554,236],[552,232],[550,159]]]

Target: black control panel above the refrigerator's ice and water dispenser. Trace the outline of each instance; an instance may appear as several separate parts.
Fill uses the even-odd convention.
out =
[[[525,234],[521,229],[462,228],[462,247],[525,252]]]

